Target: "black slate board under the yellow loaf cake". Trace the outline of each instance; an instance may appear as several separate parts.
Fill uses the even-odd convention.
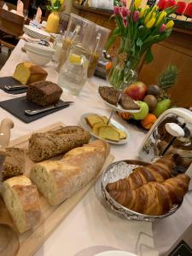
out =
[[[4,88],[5,85],[18,85],[20,82],[15,80],[13,77],[4,77],[0,78],[0,89],[4,90],[6,93],[9,94],[20,94],[26,92],[27,88],[19,89],[19,90],[6,90]]]

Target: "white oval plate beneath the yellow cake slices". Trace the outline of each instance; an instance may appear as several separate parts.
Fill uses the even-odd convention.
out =
[[[88,124],[87,124],[87,121],[86,121],[86,118],[87,118],[89,115],[93,115],[93,114],[97,114],[97,113],[84,113],[84,114],[81,116],[80,120],[79,120],[80,125],[84,128],[84,130],[89,131],[89,132],[90,132],[90,135],[92,135],[93,137],[96,137],[96,138],[98,138],[98,139],[102,139],[103,141],[106,141],[106,142],[108,142],[108,143],[116,144],[116,145],[123,145],[123,144],[125,144],[125,143],[128,142],[129,137],[128,137],[127,131],[125,130],[125,127],[124,127],[123,125],[120,125],[120,124],[119,124],[117,121],[115,121],[114,119],[111,119],[111,120],[110,120],[110,123],[111,123],[112,125],[114,125],[116,128],[118,128],[118,129],[120,129],[120,130],[122,130],[122,131],[125,132],[126,138],[125,138],[124,140],[120,140],[119,142],[113,142],[113,141],[110,141],[110,140],[107,140],[107,139],[103,139],[102,137],[99,137],[99,136],[97,136],[95,133],[93,133],[93,132],[92,132],[92,129],[91,129],[91,127],[90,127],[90,125],[88,125]],[[98,114],[98,115],[99,115],[99,114]]]

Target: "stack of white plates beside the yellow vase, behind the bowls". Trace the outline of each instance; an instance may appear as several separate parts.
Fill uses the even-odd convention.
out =
[[[49,40],[50,38],[50,34],[48,32],[45,32],[34,26],[24,25],[23,31],[26,32],[27,35],[32,36],[33,38],[46,39],[46,40]]]

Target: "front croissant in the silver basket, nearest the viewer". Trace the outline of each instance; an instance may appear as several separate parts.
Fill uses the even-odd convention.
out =
[[[187,175],[179,174],[164,183],[151,182],[135,190],[112,190],[109,195],[134,212],[158,216],[169,212],[183,200],[189,189],[189,181]]]

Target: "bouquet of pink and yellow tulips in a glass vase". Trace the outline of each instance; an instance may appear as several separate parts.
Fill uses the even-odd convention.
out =
[[[108,81],[113,87],[121,89],[130,75],[128,70],[137,72],[137,66],[142,58],[149,63],[153,61],[152,45],[168,38],[172,33],[174,22],[169,15],[175,7],[161,11],[157,5],[140,8],[141,0],[132,1],[128,9],[126,0],[114,0],[113,18],[116,28],[109,38],[106,49],[116,38],[121,39],[118,55],[108,73]]]

